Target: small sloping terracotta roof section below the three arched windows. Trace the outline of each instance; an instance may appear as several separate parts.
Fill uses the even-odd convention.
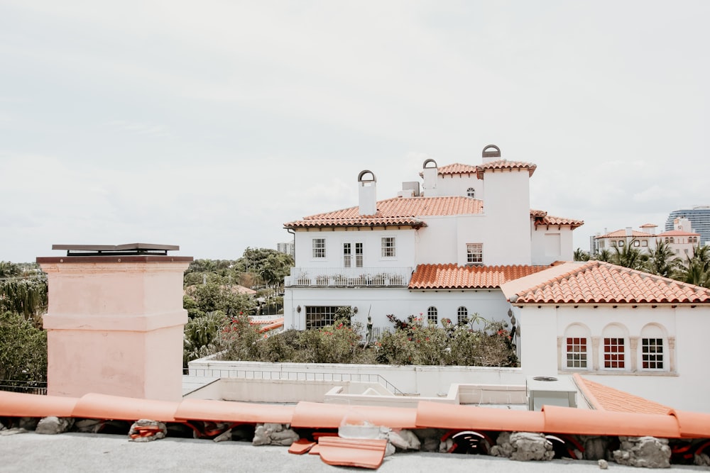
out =
[[[672,411],[672,408],[663,404],[584,379],[579,373],[574,374],[574,382],[579,387],[581,394],[597,411],[639,414],[667,414]]]

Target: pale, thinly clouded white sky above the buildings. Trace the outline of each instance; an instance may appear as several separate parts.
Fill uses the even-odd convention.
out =
[[[422,162],[534,162],[589,236],[710,204],[710,2],[0,0],[0,260],[234,259]]]

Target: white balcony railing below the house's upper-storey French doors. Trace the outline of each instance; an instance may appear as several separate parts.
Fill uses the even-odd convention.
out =
[[[285,286],[402,287],[409,284],[411,267],[314,268],[294,267]]]

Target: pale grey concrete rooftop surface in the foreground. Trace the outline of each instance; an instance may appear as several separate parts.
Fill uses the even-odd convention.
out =
[[[288,447],[253,446],[251,443],[164,438],[148,443],[130,442],[125,435],[22,433],[0,437],[0,472],[337,472],[367,471],[334,467],[318,455],[293,455]],[[597,462],[552,460],[516,462],[481,455],[399,452],[386,457],[376,471],[399,472],[599,472]],[[609,462],[610,472],[643,469]],[[665,472],[706,471],[672,465]]]

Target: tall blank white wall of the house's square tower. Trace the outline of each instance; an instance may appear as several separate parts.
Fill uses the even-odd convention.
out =
[[[530,265],[530,174],[528,169],[485,173],[486,265]],[[486,255],[492,258],[488,260]]]

